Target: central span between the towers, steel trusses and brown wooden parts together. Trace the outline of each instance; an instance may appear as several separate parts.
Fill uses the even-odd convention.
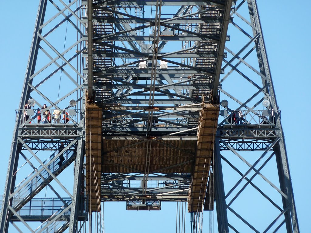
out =
[[[131,197],[141,204],[154,201],[159,205],[160,200],[174,198],[165,199],[165,187],[148,188],[148,176],[155,179],[158,173],[183,173],[189,179],[186,177],[191,174],[187,190],[184,185],[175,185],[175,200],[185,201],[185,191],[190,189],[188,211],[201,212],[219,112],[221,67],[217,63],[225,56],[232,2],[157,1],[154,6],[150,3],[93,1],[92,10],[88,5],[93,22],[88,24],[93,32],[88,34],[92,49],[84,56],[92,65],[84,72],[90,75],[92,68],[87,100],[90,109],[91,104],[96,104],[103,113],[99,168],[105,183],[102,199],[125,201]],[[96,115],[93,107],[91,114]],[[92,132],[98,135],[98,128],[95,121],[87,123],[89,137]],[[86,168],[86,174],[98,167],[100,148],[97,139],[90,145],[88,142],[87,147],[96,151],[86,150],[87,158],[95,155],[95,164]],[[134,196],[129,192],[126,198],[116,195],[113,199],[109,192],[113,192],[115,184],[107,186],[106,176],[120,172],[128,176],[143,174],[142,190],[134,190]],[[99,197],[100,170],[95,173],[96,177],[86,178],[90,183],[97,180],[87,190]],[[166,189],[169,188],[168,185]],[[171,195],[173,191],[166,192]],[[99,211],[98,200],[91,200],[91,211]]]

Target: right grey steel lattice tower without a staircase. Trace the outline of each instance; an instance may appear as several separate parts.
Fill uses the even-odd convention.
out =
[[[218,231],[299,232],[256,1],[237,1],[231,16],[220,80],[229,105],[220,111],[215,148]],[[264,100],[267,107],[255,110]]]

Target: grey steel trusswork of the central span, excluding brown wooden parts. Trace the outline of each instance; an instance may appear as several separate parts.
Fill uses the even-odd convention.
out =
[[[136,3],[93,1],[93,49],[83,55],[89,63],[83,72],[93,71],[89,101],[103,108],[103,140],[196,140],[202,96],[206,103],[218,101],[217,62],[226,57],[231,1]],[[131,189],[122,176],[115,181],[107,177],[117,174],[103,174],[102,200],[137,201],[128,208],[186,201],[189,178],[164,185],[168,175],[145,172],[142,184]],[[149,186],[156,177],[162,186]]]

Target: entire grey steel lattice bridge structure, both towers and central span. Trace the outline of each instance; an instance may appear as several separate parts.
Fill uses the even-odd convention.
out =
[[[79,232],[104,201],[299,232],[256,0],[40,1],[0,232]]]

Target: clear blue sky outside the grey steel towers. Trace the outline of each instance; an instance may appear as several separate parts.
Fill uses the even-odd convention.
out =
[[[3,104],[4,107],[0,115],[0,122],[3,125],[0,136],[2,148],[0,193],[3,193],[12,133],[15,126],[15,109],[18,108],[24,83],[38,1],[18,0],[14,4],[9,1],[2,1],[1,6],[2,36],[0,42],[2,56],[0,57],[0,64],[3,87],[0,94],[3,103],[6,103]],[[311,220],[309,214],[311,208],[309,201],[309,193],[311,192],[309,164],[311,164],[311,153],[308,148],[310,130],[307,127],[311,112],[307,103],[311,98],[309,90],[311,75],[308,72],[311,62],[309,56],[311,52],[309,38],[311,35],[307,26],[309,21],[307,12],[311,8],[311,3],[306,1],[304,4],[296,4],[292,1],[259,0],[258,8],[276,98],[282,110],[282,125],[300,230],[301,232],[309,232]],[[125,205],[122,205],[121,208],[124,209]],[[139,224],[138,219],[134,218],[137,213],[131,212],[130,214],[132,216],[129,219],[135,222],[132,223],[132,226],[135,227]],[[150,223],[154,221],[150,226],[157,228],[156,223],[162,224],[156,220],[156,213],[147,214]],[[119,213],[113,213],[113,215],[121,217]],[[165,221],[165,210],[161,215],[163,217],[161,221]],[[206,216],[205,221],[208,221],[208,214]],[[174,216],[170,217],[174,220]],[[108,222],[107,224],[109,224]],[[164,225],[166,224],[170,225],[170,222],[165,221]],[[173,221],[171,224],[174,225],[175,222]],[[108,231],[106,228],[106,232],[113,231]],[[129,230],[128,232],[132,231]],[[156,231],[151,229],[149,232]]]

